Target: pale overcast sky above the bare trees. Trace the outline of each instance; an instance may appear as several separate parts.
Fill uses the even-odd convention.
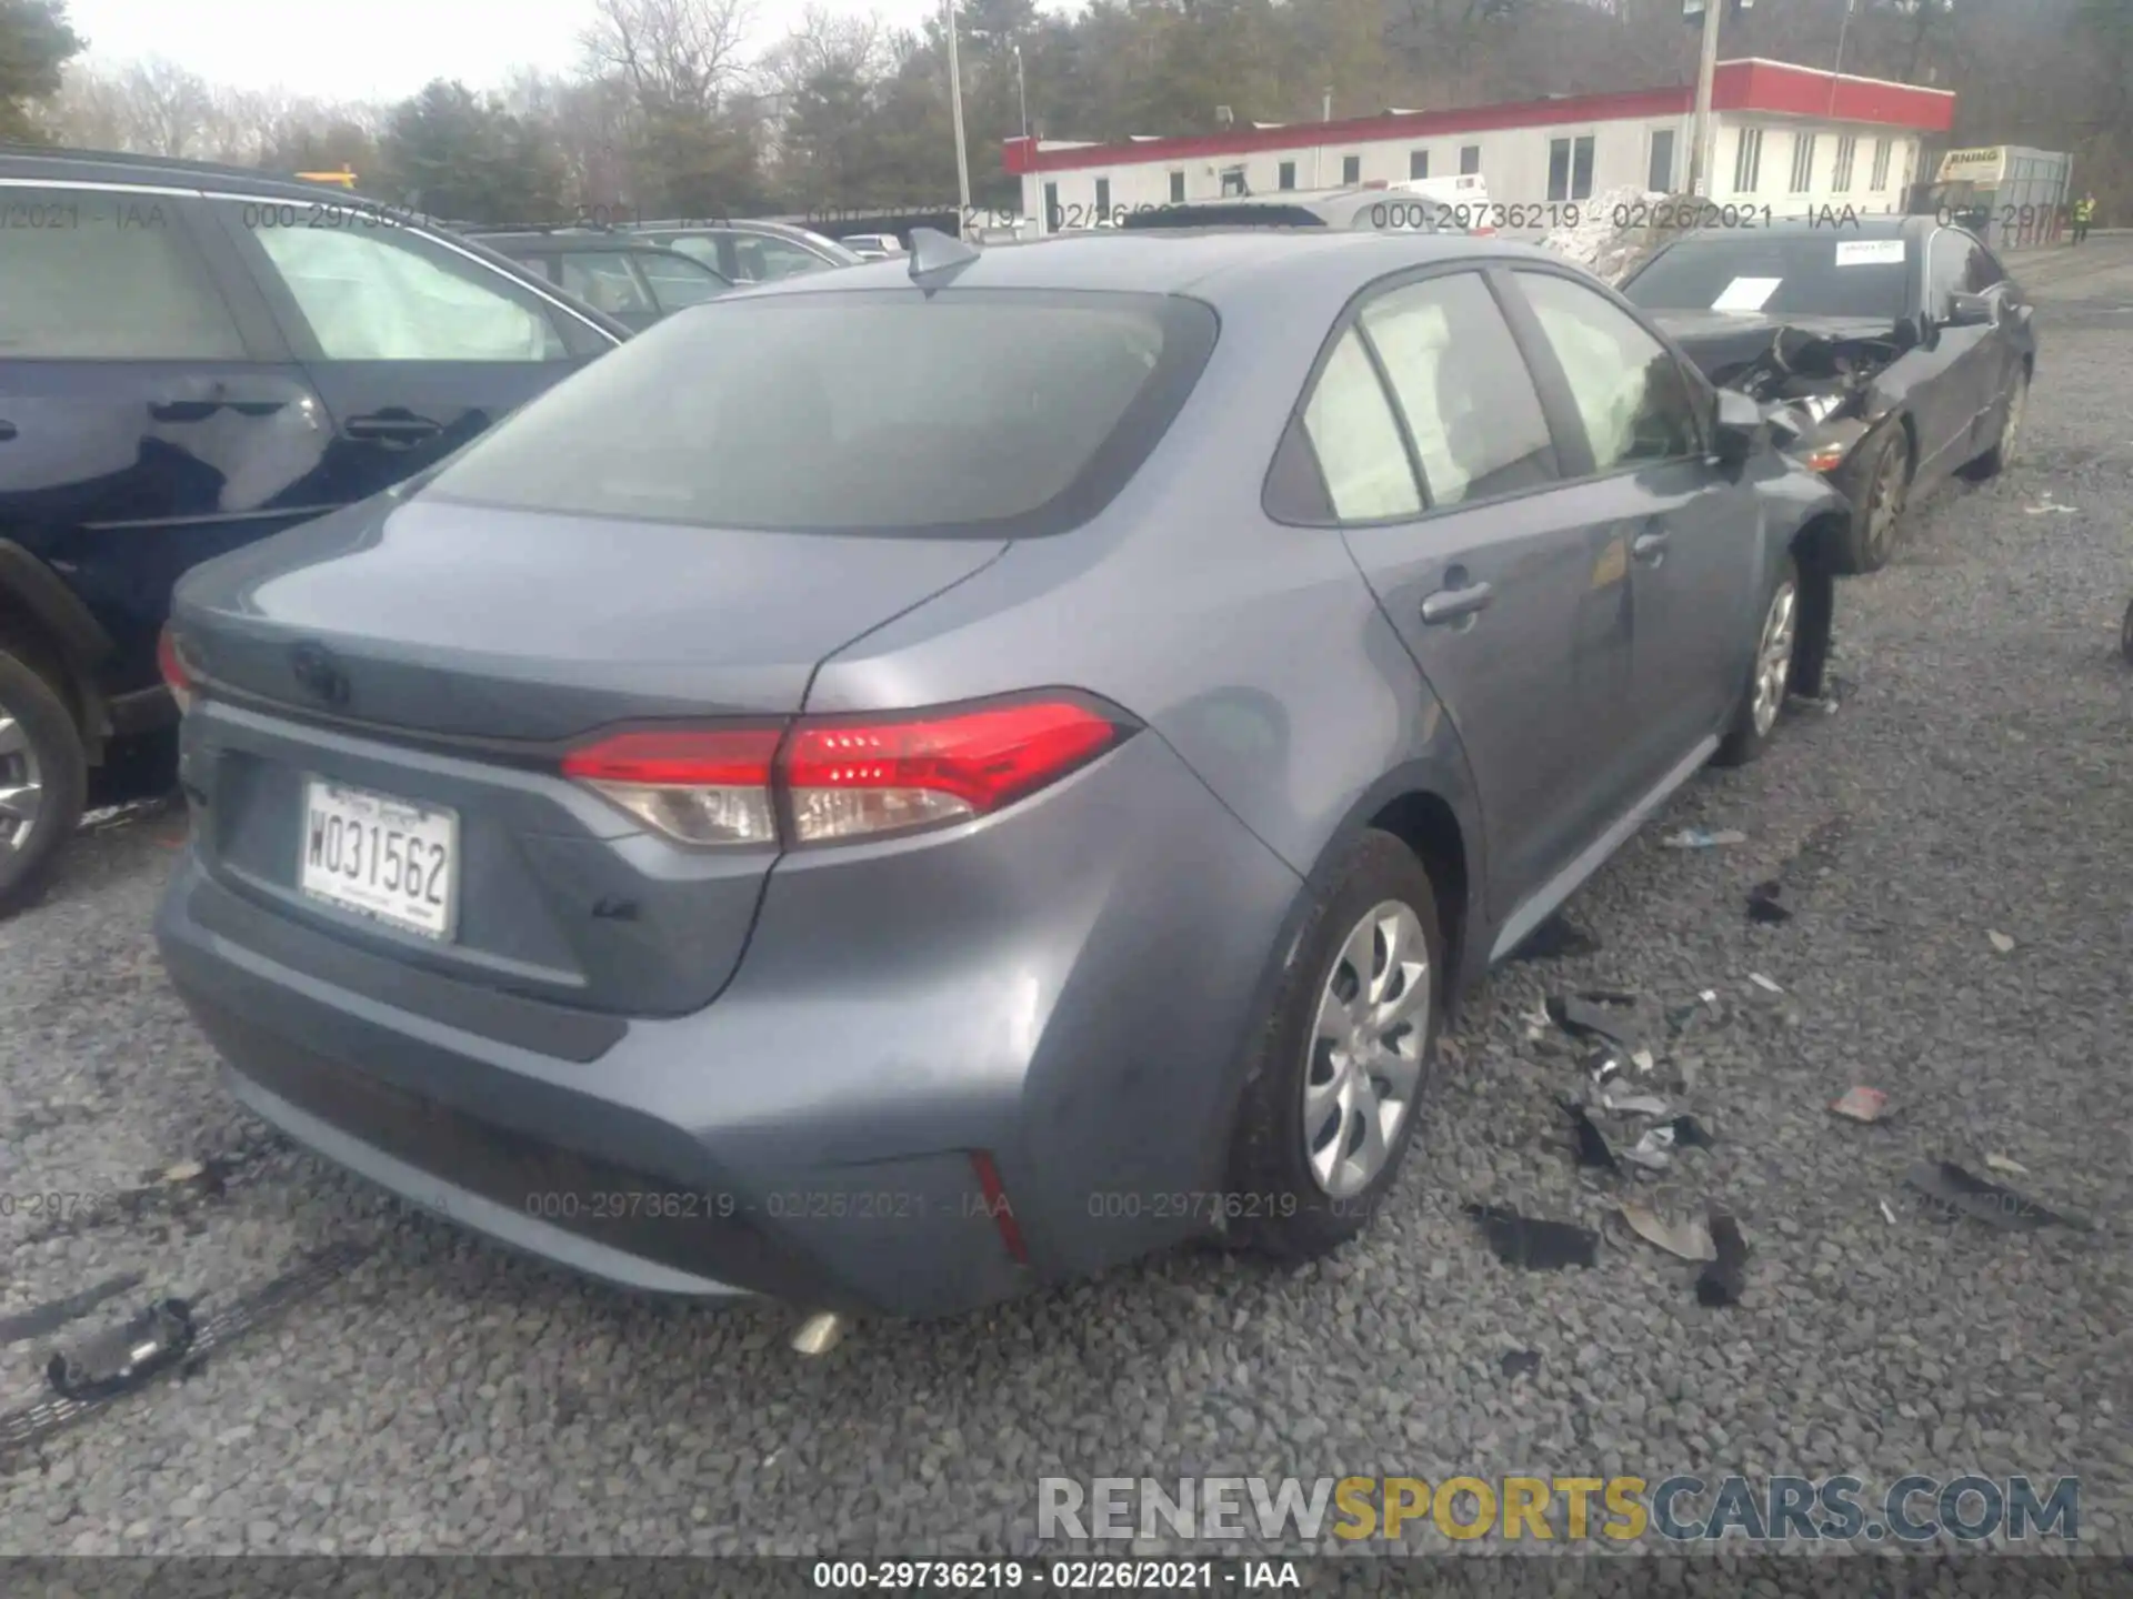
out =
[[[875,11],[898,28],[939,0],[817,0]],[[802,0],[755,0],[757,53],[783,38]],[[578,64],[593,0],[68,0],[68,21],[100,62],[166,55],[213,83],[282,85],[322,100],[397,100],[433,77],[495,87],[516,66]]]

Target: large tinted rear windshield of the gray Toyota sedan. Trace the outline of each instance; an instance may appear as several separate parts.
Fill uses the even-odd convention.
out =
[[[1214,337],[1212,309],[1160,294],[715,301],[548,390],[422,492],[791,533],[1026,537],[1124,486]]]

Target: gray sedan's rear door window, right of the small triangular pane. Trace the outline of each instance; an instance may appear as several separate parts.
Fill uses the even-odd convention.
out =
[[[1423,458],[1431,505],[1555,478],[1555,446],[1510,324],[1478,273],[1389,290],[1361,313]]]

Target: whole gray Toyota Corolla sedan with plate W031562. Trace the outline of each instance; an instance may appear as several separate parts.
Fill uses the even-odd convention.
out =
[[[262,1117],[619,1283],[1318,1254],[1817,691],[1843,516],[1536,249],[921,237],[186,578],[162,951]]]

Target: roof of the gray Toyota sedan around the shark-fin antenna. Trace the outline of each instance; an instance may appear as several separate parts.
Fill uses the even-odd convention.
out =
[[[1194,294],[1209,303],[1258,288],[1361,288],[1401,266],[1457,260],[1566,264],[1561,256],[1502,239],[1446,232],[1348,232],[1335,228],[1116,228],[1060,235],[977,252],[941,273],[956,288],[1109,290]],[[845,266],[836,273],[781,277],[744,290],[757,294],[845,294],[911,281],[911,258]]]

